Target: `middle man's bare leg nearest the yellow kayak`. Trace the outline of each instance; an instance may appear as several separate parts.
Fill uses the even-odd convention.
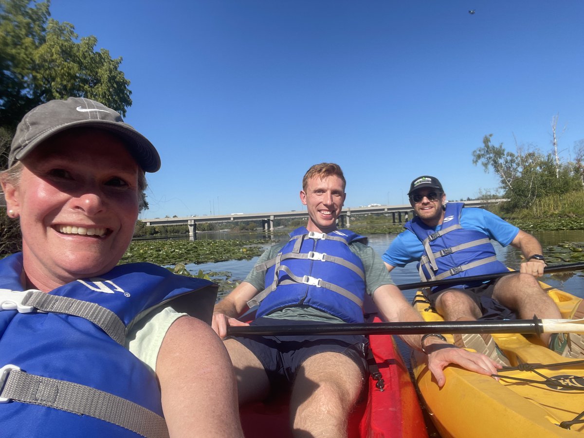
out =
[[[346,437],[347,418],[363,387],[361,370],[340,353],[320,353],[304,361],[290,398],[294,436]]]

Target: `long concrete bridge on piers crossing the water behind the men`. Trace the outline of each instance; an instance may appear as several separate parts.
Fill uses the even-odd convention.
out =
[[[499,203],[505,199],[491,199],[480,201],[465,201],[467,207],[484,207],[487,204]],[[401,224],[413,217],[413,209],[409,204],[401,206],[370,206],[370,207],[349,207],[343,208],[339,216],[340,227],[350,227],[352,215],[356,214],[391,214],[392,223]],[[231,221],[262,221],[262,228],[265,231],[274,230],[274,219],[280,218],[303,218],[308,217],[305,210],[302,211],[278,211],[271,213],[232,213],[218,214],[213,216],[189,216],[189,217],[165,217],[155,219],[141,219],[147,227],[155,225],[183,225],[189,227],[189,237],[194,238],[197,232],[197,224],[203,223],[225,223]]]

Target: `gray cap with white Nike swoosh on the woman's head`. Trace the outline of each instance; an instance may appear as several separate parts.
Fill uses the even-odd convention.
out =
[[[34,107],[16,127],[8,166],[26,157],[47,138],[76,127],[92,127],[116,134],[144,172],[160,169],[158,151],[144,135],[124,123],[120,114],[102,103],[86,98],[50,100]]]

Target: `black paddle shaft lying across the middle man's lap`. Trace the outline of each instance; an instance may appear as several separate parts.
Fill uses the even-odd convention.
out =
[[[569,320],[568,320],[569,321]],[[229,326],[227,335],[424,335],[426,333],[542,333],[541,319],[515,321],[364,322],[361,324],[298,324]]]

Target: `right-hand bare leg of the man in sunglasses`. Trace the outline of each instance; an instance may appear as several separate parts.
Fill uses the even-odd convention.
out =
[[[562,317],[557,305],[540,287],[536,277],[518,273],[502,277],[495,284],[493,298],[515,310],[521,319],[538,318],[559,319]],[[550,333],[543,333],[541,340],[550,343]]]

